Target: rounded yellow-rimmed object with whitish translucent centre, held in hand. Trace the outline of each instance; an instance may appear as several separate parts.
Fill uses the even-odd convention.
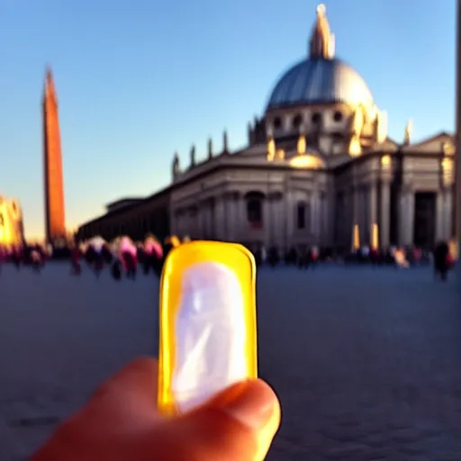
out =
[[[160,282],[158,409],[188,411],[258,377],[256,265],[248,249],[194,240],[168,254]]]

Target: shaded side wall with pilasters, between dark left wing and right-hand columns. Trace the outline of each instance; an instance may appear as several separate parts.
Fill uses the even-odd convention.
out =
[[[255,205],[255,201],[258,204]],[[173,205],[172,231],[193,239],[239,241],[279,249],[296,244],[319,245],[328,234],[322,232],[328,226],[324,203],[325,196],[319,191],[278,190],[267,194],[231,191],[198,203]],[[299,229],[298,206],[304,206],[306,213],[305,225]]]

